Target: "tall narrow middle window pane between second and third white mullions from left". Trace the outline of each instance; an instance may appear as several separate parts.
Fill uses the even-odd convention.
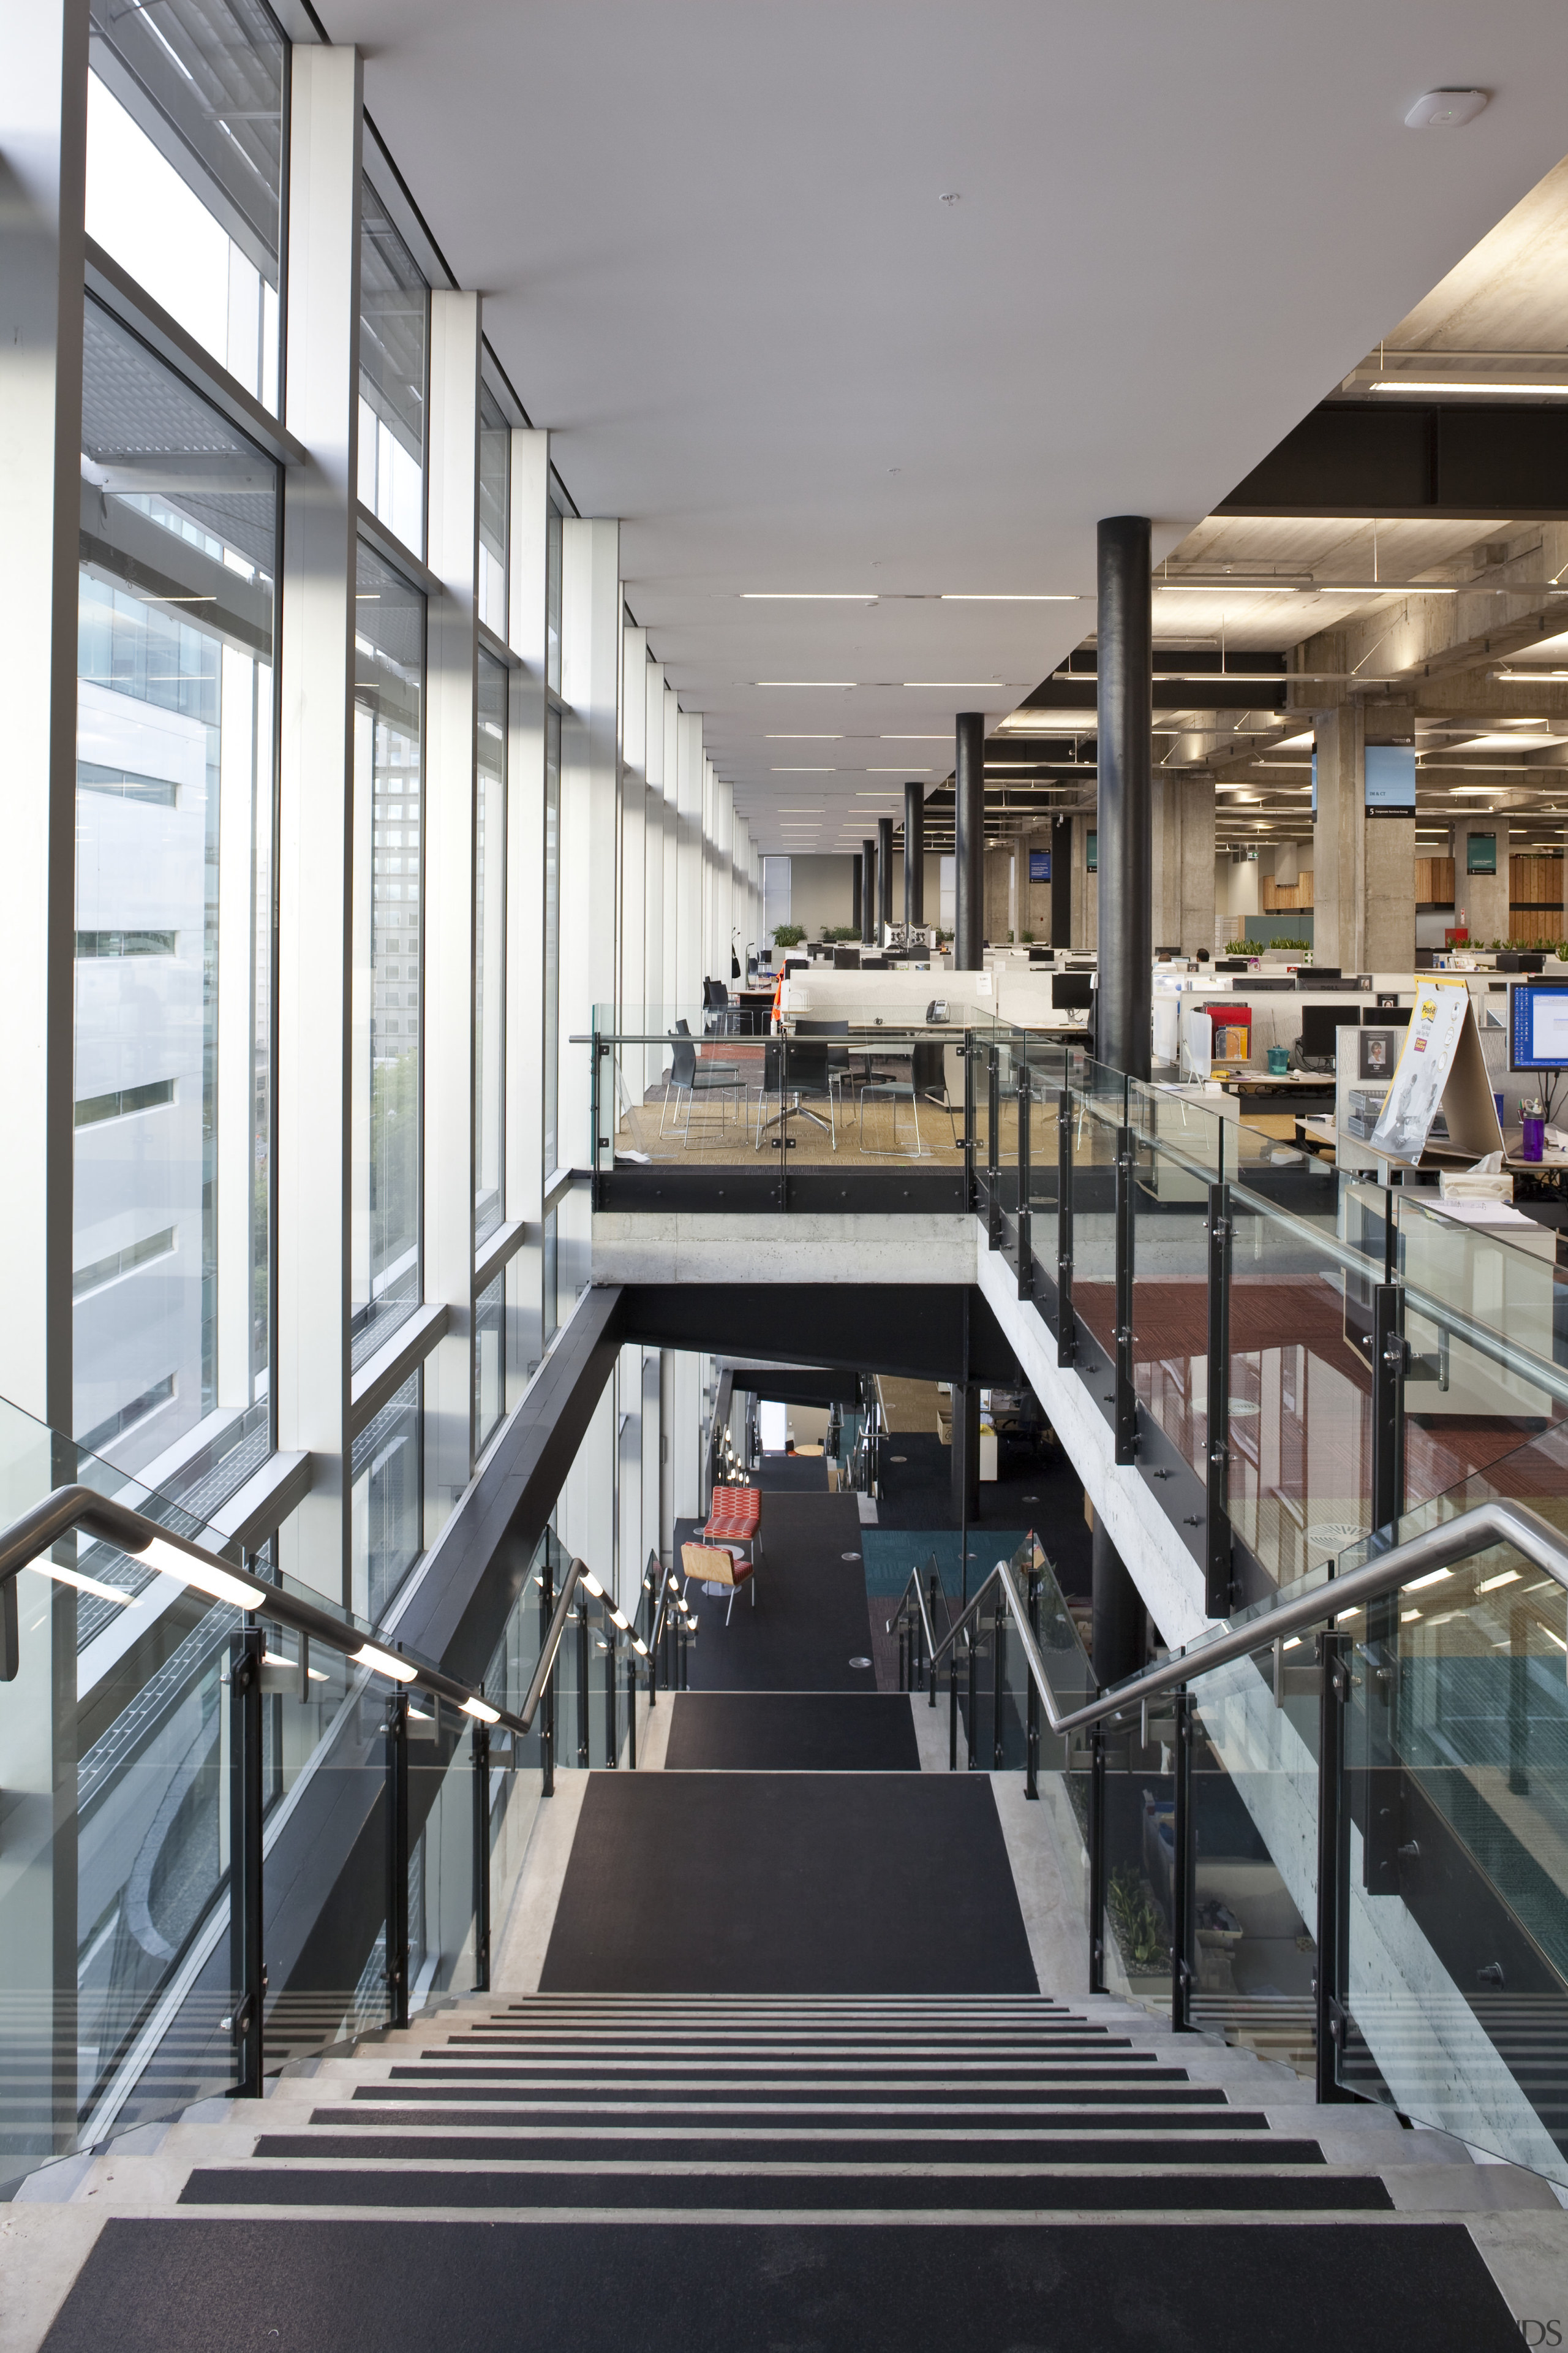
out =
[[[425,600],[360,546],[353,793],[353,1360],[418,1304]]]

